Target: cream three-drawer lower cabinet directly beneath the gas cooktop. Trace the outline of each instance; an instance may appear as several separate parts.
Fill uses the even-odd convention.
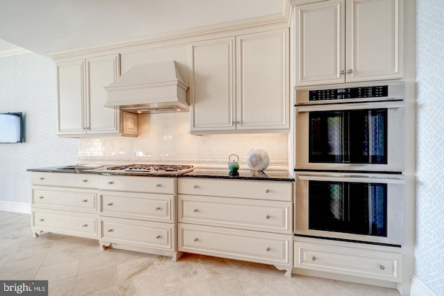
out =
[[[177,261],[176,178],[101,175],[99,188],[103,250],[115,247]]]

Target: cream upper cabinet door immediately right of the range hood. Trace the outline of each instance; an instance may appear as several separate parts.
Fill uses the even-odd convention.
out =
[[[234,38],[190,45],[190,132],[235,130]]]

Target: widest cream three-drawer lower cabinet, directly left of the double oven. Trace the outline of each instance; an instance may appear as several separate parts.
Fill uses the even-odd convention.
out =
[[[178,179],[178,250],[275,265],[291,277],[291,182]]]

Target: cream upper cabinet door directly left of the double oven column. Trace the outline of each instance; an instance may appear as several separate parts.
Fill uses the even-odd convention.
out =
[[[237,36],[237,130],[289,130],[289,31]]]

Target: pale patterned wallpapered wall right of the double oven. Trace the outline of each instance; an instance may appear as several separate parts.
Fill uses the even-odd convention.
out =
[[[415,275],[444,295],[444,1],[416,1]]]

